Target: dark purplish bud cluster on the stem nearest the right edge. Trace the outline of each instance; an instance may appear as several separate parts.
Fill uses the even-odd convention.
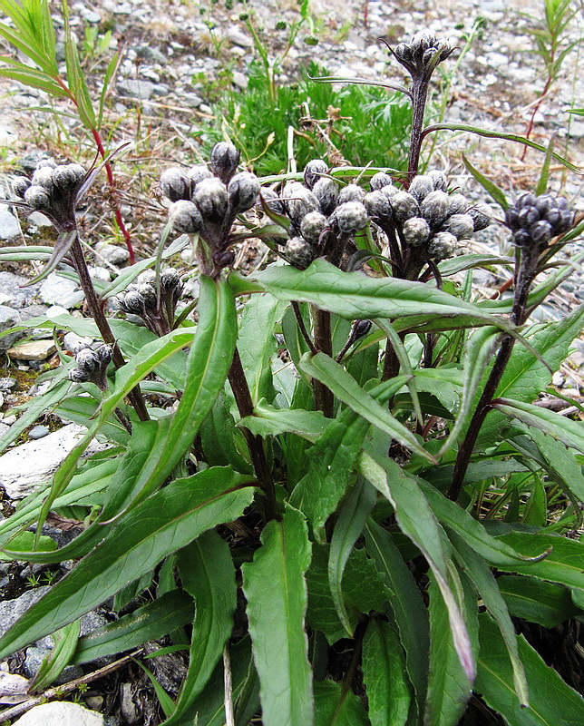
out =
[[[574,211],[564,197],[526,192],[505,212],[505,223],[513,233],[513,244],[540,253],[550,240],[574,226]]]

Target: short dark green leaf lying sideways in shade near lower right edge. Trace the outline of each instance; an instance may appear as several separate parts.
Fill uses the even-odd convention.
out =
[[[529,575],[502,574],[497,585],[509,612],[516,618],[555,628],[580,613],[569,590]]]

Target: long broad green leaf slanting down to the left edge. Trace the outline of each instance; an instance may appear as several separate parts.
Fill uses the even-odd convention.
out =
[[[215,467],[152,495],[5,633],[0,658],[72,623],[201,533],[236,519],[253,496],[247,484],[248,477]]]

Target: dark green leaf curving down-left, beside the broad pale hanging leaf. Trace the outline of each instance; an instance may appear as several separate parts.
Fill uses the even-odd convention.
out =
[[[233,630],[238,600],[229,544],[215,531],[205,532],[180,550],[178,564],[180,580],[195,598],[197,612],[192,625],[189,671],[165,726],[180,723],[209,681]]]

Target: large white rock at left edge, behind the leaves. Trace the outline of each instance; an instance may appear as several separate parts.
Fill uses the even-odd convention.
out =
[[[0,456],[0,484],[5,487],[6,494],[12,499],[23,499],[39,484],[47,482],[86,430],[83,426],[69,424],[48,437],[27,441]],[[93,440],[85,456],[102,448],[102,444]]]

